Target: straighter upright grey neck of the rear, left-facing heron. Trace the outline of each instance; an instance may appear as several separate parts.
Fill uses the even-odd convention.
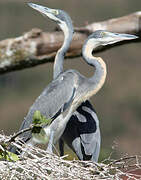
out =
[[[58,50],[56,57],[55,57],[55,62],[54,62],[54,73],[53,73],[53,78],[57,78],[57,76],[63,72],[63,62],[64,62],[64,56],[69,49],[70,43],[72,41],[73,37],[73,28],[68,27],[67,25],[65,28],[62,28],[64,32],[64,42],[61,48]]]

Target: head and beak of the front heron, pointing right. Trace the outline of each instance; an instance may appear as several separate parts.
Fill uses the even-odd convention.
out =
[[[95,43],[98,45],[108,45],[114,44],[116,42],[120,42],[123,40],[131,40],[138,38],[135,35],[130,34],[119,34],[119,33],[112,33],[105,30],[98,30],[95,31],[92,35],[89,36],[88,39],[93,39]]]

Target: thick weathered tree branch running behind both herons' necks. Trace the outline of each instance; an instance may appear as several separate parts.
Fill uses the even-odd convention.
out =
[[[141,11],[116,19],[92,23],[82,28],[75,28],[73,41],[66,57],[80,56],[84,40],[90,33],[98,29],[131,33],[141,37]],[[20,37],[1,41],[0,74],[53,61],[63,39],[62,32],[46,33],[40,29],[33,29]],[[136,41],[141,41],[141,38]],[[125,43],[129,43],[129,41],[120,44]],[[103,50],[105,48],[101,47],[96,52]]]

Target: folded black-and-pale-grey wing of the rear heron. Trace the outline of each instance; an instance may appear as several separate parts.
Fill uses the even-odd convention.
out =
[[[84,156],[91,156],[91,160],[97,161],[101,144],[99,121],[92,105],[88,101],[83,103],[80,108],[78,111],[86,118],[86,123],[78,127],[83,158]],[[79,121],[83,120],[80,117],[78,119]]]

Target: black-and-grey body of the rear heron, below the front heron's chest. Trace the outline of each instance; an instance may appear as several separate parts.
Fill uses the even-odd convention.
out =
[[[61,155],[64,155],[63,141],[79,159],[98,161],[101,144],[99,120],[89,101],[83,102],[67,123],[59,144]]]

